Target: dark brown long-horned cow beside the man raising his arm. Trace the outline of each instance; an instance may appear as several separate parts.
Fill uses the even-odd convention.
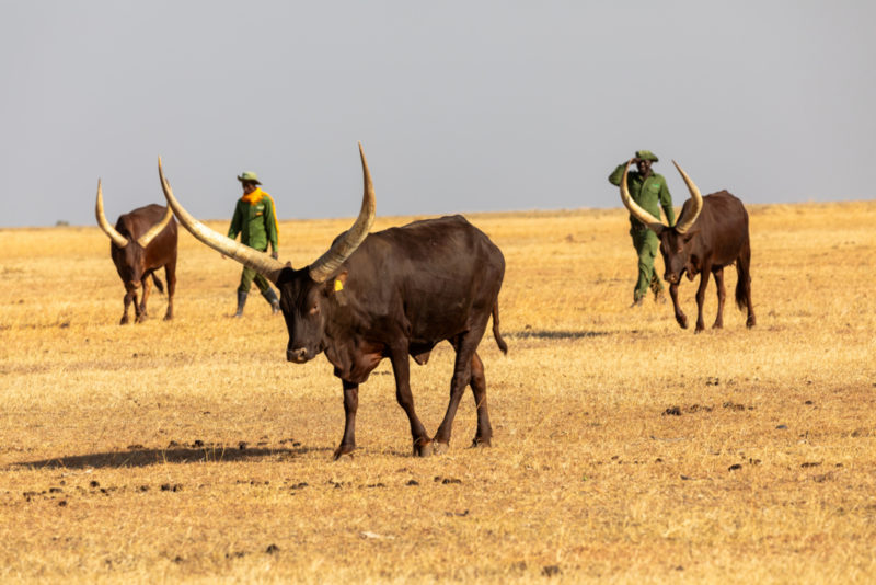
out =
[[[632,161],[630,161],[632,162]],[[703,300],[708,284],[708,274],[715,275],[718,289],[718,312],[713,328],[724,326],[724,267],[736,264],[736,305],[739,310],[748,309],[746,325],[754,326],[754,309],[751,305],[751,244],[748,234],[748,211],[742,202],[726,191],[713,193],[705,197],[691,181],[681,167],[672,161],[681,173],[691,198],[684,202],[678,222],[670,228],[659,219],[639,207],[626,188],[626,170],[621,180],[621,200],[630,213],[657,233],[660,239],[660,253],[664,256],[666,273],[664,279],[669,283],[669,295],[676,310],[676,321],[687,329],[688,317],[678,305],[678,285],[687,273],[688,279],[700,276],[696,289],[696,329],[700,333],[705,329],[703,323]],[[630,163],[626,163],[630,168]]]

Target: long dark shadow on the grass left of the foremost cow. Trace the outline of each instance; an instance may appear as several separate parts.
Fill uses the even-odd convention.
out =
[[[205,463],[256,461],[272,458],[289,460],[313,451],[331,451],[328,447],[255,447],[244,448],[229,446],[205,447],[170,447],[166,449],[127,449],[88,455],[72,455],[36,461],[18,461],[9,467],[33,469],[102,469],[135,468],[163,463]]]

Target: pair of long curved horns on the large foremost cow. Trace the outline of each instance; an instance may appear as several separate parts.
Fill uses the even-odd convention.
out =
[[[368,161],[365,159],[361,142],[359,142],[359,156],[362,160],[362,181],[365,183],[362,206],[359,210],[359,217],[356,218],[353,227],[344,232],[344,236],[308,268],[310,277],[316,283],[324,283],[328,276],[356,251],[359,244],[362,243],[362,240],[368,236],[371,223],[374,221],[374,185],[371,183],[371,172],[368,170]],[[253,250],[249,245],[227,238],[195,219],[173,196],[171,185],[164,177],[164,170],[161,167],[161,157],[158,158],[158,173],[161,177],[161,187],[164,190],[164,197],[168,199],[169,206],[173,208],[173,213],[176,214],[176,218],[185,226],[185,229],[217,252],[233,257],[244,266],[263,274],[270,282],[277,283],[277,278],[279,278],[280,272],[286,267],[286,264],[275,260],[265,252]]]

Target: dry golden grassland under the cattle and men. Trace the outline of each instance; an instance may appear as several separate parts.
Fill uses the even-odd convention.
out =
[[[341,383],[285,360],[257,294],[228,319],[238,264],[183,230],[176,319],[155,295],[119,326],[96,227],[0,230],[0,582],[872,583],[876,202],[750,214],[758,326],[728,298],[701,335],[627,309],[620,209],[471,216],[507,261],[493,448],[468,394],[450,451],[411,457],[384,362],[336,463]],[[348,222],[285,221],[281,252]],[[412,369],[431,432],[451,359]]]

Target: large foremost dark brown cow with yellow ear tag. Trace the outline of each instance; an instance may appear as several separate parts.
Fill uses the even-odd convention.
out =
[[[266,253],[221,236],[192,217],[159,174],[164,195],[180,222],[210,248],[264,274],[280,290],[289,343],[286,358],[303,364],[324,352],[341,378],[346,423],[335,459],[356,447],[359,385],[388,357],[395,395],[411,423],[414,455],[445,451],[460,398],[471,386],[477,412],[474,445],[489,445],[493,428],[486,403],[484,366],[477,345],[489,318],[499,334],[498,294],[505,259],[481,230],[461,216],[415,221],[369,234],[374,218],[374,188],[359,145],[365,193],[353,227],[338,236],[310,266],[293,269]],[[450,402],[434,437],[414,410],[410,360],[426,364],[431,349],[447,340],[456,349]]]

